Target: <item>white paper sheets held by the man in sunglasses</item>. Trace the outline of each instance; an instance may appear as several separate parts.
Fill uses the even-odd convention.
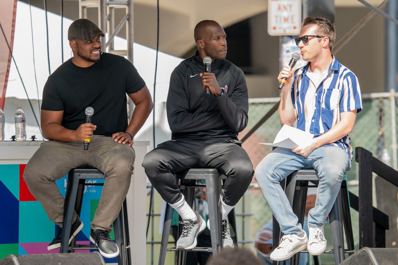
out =
[[[312,133],[301,131],[300,129],[291,127],[289,125],[283,125],[282,129],[276,135],[273,143],[261,142],[260,144],[293,149],[303,142],[312,140],[312,138],[314,138],[314,134]]]

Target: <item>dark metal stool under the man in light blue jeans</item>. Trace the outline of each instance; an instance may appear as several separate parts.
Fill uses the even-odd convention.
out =
[[[308,181],[311,181],[316,185],[308,185]],[[286,178],[285,193],[287,195],[287,198],[289,199],[291,207],[293,208],[293,212],[298,217],[298,222],[300,222],[301,224],[304,222],[307,188],[316,187],[318,183],[319,179],[315,170],[294,171]],[[351,255],[355,251],[346,175],[344,175],[343,177],[339,194],[336,198],[336,201],[334,202],[332,210],[330,211],[329,222],[330,230],[332,231],[333,249],[326,249],[324,253],[334,254],[334,261],[336,265],[338,265],[345,259],[345,253]],[[345,238],[347,240],[347,249],[344,248],[343,224]],[[273,238],[274,246],[277,246],[279,242],[278,236],[280,236],[279,234],[281,233],[279,229],[279,224],[277,224],[275,218],[273,229],[274,231],[277,231],[277,233],[274,233]],[[277,238],[275,238],[275,236]],[[298,259],[299,253],[295,254],[291,258],[291,264],[297,265]]]

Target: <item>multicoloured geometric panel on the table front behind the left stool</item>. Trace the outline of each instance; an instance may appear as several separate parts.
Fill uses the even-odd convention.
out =
[[[59,253],[58,249],[48,251],[57,226],[49,220],[41,204],[33,197],[23,181],[25,164],[0,165],[0,259],[8,254]],[[105,179],[89,179],[86,183],[104,183]],[[55,181],[60,193],[65,196],[67,176]],[[76,244],[90,245],[90,222],[98,207],[102,186],[84,187],[80,219],[84,226],[77,234]],[[115,239],[113,231],[109,234]],[[76,250],[90,252],[97,250]],[[107,264],[117,264],[117,257],[105,258]]]

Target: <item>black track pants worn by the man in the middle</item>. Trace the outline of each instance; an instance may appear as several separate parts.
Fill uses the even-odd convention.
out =
[[[174,173],[189,168],[217,168],[228,178],[224,203],[236,205],[254,174],[253,164],[238,140],[170,140],[146,154],[142,166],[150,182],[170,204],[181,199]]]

